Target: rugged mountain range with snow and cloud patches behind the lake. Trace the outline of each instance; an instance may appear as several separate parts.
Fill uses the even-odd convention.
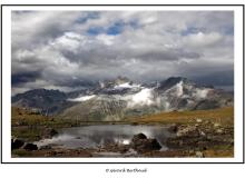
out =
[[[203,110],[233,106],[233,93],[182,77],[150,83],[118,77],[82,90],[35,89],[12,97],[12,106],[62,119],[116,121],[161,111]]]

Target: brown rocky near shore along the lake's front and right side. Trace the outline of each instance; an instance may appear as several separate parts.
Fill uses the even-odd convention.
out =
[[[47,146],[37,148],[22,142],[12,150],[12,157],[233,157],[234,128],[218,122],[196,119],[195,122],[173,123],[169,131],[175,134],[166,140],[167,150],[155,138],[144,134],[135,135],[129,145],[107,144],[100,148],[65,149]],[[55,131],[51,131],[55,132]],[[12,139],[12,146],[19,139]]]

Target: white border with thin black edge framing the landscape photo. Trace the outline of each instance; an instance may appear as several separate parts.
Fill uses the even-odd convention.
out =
[[[234,11],[234,158],[11,158],[12,10],[232,10]],[[243,4],[2,4],[1,6],[1,162],[2,164],[244,164],[244,6]],[[243,96],[243,97],[241,97]],[[242,137],[241,137],[242,136]]]

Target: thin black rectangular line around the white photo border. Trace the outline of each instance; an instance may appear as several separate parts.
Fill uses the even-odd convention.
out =
[[[242,7],[243,8],[243,161],[239,162],[101,162],[101,161],[96,161],[96,162],[3,162],[2,160],[2,149],[1,149],[1,164],[245,164],[245,157],[244,157],[244,4],[1,4],[1,148],[3,147],[2,145],[2,10],[4,7],[12,7],[12,6],[28,6],[28,7],[74,7],[74,6],[80,6],[80,7]],[[234,152],[235,154],[235,152]],[[50,158],[51,159],[51,158]],[[56,158],[57,159],[57,158]],[[144,158],[147,159],[147,158]]]

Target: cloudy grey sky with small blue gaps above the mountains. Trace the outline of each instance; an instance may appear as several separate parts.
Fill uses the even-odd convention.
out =
[[[125,76],[233,83],[232,11],[12,11],[12,93]]]

